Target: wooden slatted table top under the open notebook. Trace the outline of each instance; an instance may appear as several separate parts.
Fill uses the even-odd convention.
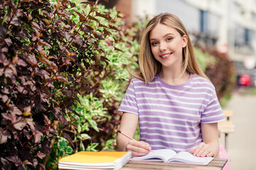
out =
[[[164,162],[149,162],[149,161],[132,161],[130,160],[120,170],[139,170],[139,169],[201,169],[201,170],[217,170],[223,169],[228,159],[215,158],[208,165],[193,165],[193,164],[178,164]]]

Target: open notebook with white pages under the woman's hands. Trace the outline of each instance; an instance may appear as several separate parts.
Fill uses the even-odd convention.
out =
[[[213,157],[196,157],[189,152],[178,152],[172,149],[153,150],[142,157],[133,157],[131,160],[146,160],[146,161],[162,161],[162,162],[181,162],[187,164],[207,165]]]

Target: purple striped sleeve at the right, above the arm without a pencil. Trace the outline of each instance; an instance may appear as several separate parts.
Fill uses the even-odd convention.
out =
[[[201,123],[218,123],[224,120],[225,117],[222,108],[220,107],[217,95],[214,92],[201,115]]]

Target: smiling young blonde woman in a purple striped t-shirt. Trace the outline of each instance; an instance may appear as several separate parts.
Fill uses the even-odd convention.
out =
[[[217,123],[225,118],[186,28],[176,16],[161,13],[149,21],[141,39],[139,73],[119,107],[120,130],[134,137],[139,123],[141,141],[118,135],[117,147],[132,157],[164,148],[216,157]]]

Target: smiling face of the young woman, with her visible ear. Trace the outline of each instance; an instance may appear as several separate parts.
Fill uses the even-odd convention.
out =
[[[154,58],[162,67],[181,67],[182,49],[187,45],[187,36],[164,24],[157,24],[149,34],[149,43]]]

